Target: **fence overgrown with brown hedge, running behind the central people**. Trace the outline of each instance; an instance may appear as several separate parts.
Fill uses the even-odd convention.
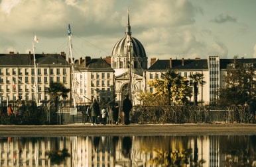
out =
[[[108,108],[107,123],[111,123]],[[248,106],[134,106],[130,113],[132,123],[242,123],[248,122]],[[121,111],[119,112],[121,117]],[[121,120],[121,119],[119,119]],[[58,123],[86,123],[86,106],[78,106],[72,115],[70,108],[58,112]],[[99,117],[99,123],[100,123]]]

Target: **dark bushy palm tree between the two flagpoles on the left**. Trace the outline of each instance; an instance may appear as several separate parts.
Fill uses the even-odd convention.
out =
[[[56,112],[58,111],[58,100],[60,96],[62,98],[68,97],[68,92],[70,92],[69,88],[66,88],[63,83],[58,82],[51,82],[48,90],[45,91],[46,93],[50,94],[52,100],[54,101],[54,106]]]

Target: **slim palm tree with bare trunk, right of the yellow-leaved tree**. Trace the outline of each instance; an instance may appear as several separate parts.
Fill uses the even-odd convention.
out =
[[[193,85],[194,87],[194,105],[198,105],[198,84],[204,85],[206,81],[204,81],[204,74],[202,73],[195,73],[189,76],[190,79],[192,79],[192,83],[190,83],[190,86]]]

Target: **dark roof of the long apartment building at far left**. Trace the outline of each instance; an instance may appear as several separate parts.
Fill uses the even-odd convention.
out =
[[[66,55],[64,52],[62,54],[35,54],[34,55],[36,58],[36,64],[38,65],[49,65],[49,64],[60,64],[60,65],[65,65],[68,64],[66,61]],[[34,65],[34,56],[32,53],[28,54],[19,54],[19,53],[13,53],[10,52],[9,54],[0,54],[0,65],[23,65],[23,66],[28,66],[28,65]]]

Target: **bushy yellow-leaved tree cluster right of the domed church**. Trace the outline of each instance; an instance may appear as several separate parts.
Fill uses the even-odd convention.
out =
[[[178,75],[176,70],[167,70],[162,79],[154,79],[147,84],[155,88],[155,92],[145,92],[140,95],[145,105],[184,104],[190,96],[189,81]]]

